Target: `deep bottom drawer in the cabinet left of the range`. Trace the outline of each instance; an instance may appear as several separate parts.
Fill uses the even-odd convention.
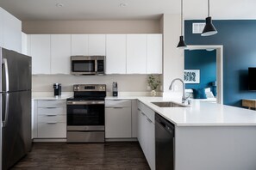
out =
[[[66,138],[66,123],[38,123],[38,138]]]

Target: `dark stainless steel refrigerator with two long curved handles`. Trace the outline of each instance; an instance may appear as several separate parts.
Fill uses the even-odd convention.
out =
[[[1,167],[12,167],[31,149],[31,58],[0,47]]]

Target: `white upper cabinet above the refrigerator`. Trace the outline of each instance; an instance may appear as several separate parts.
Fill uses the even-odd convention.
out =
[[[22,21],[0,8],[0,45],[9,50],[22,52]]]

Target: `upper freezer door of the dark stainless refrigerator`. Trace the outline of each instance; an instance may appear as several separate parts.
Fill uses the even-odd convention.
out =
[[[31,58],[4,48],[1,48],[1,54],[2,90],[0,92],[30,90]],[[9,87],[6,87],[6,85],[9,85]]]

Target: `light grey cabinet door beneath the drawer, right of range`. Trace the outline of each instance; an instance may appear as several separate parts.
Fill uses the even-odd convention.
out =
[[[130,138],[131,107],[105,109],[106,138]]]

